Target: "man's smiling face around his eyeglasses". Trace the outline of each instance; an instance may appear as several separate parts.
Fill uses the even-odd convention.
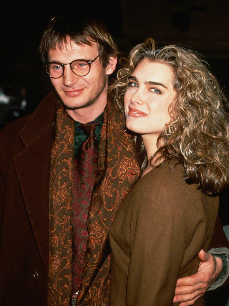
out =
[[[48,53],[49,62],[70,63],[76,59],[93,60],[99,54],[97,43],[89,45],[77,45],[68,41],[62,45],[62,50],[57,46],[56,50]],[[77,76],[65,65],[64,74],[58,78],[51,78],[51,82],[62,102],[68,109],[80,109],[96,103],[104,104],[107,99],[107,69],[103,68],[100,58],[96,58],[91,64],[91,70],[86,76]],[[104,107],[104,106],[103,106]]]

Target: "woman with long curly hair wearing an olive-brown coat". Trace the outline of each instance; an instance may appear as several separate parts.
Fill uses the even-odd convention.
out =
[[[227,101],[197,55],[153,39],[133,48],[113,92],[143,172],[111,226],[110,304],[171,305],[176,280],[208,249],[228,184]]]

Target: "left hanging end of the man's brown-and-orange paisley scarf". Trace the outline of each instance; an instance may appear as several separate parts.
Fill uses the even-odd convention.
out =
[[[74,121],[56,106],[49,198],[48,306],[68,306],[72,285],[72,178]]]

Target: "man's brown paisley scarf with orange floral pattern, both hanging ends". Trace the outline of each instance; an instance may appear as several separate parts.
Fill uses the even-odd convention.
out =
[[[96,181],[89,207],[84,267],[76,305],[109,306],[108,233],[119,204],[139,178],[137,153],[122,114],[107,102]],[[71,202],[74,122],[59,102],[51,152],[48,306],[69,306],[72,282]]]

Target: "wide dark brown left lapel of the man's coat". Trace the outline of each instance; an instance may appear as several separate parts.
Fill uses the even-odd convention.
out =
[[[33,235],[48,271],[49,179],[57,98],[49,94],[19,133],[24,149],[13,158]]]

